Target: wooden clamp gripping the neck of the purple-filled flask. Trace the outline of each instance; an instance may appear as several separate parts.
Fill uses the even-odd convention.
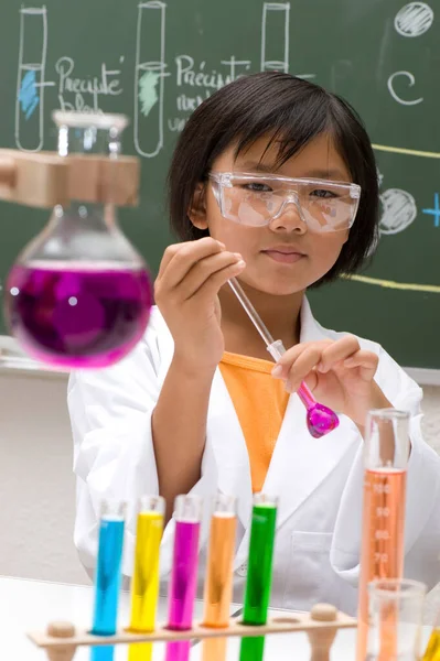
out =
[[[135,156],[28,153],[0,149],[0,199],[52,208],[77,199],[136,206],[140,162]]]

